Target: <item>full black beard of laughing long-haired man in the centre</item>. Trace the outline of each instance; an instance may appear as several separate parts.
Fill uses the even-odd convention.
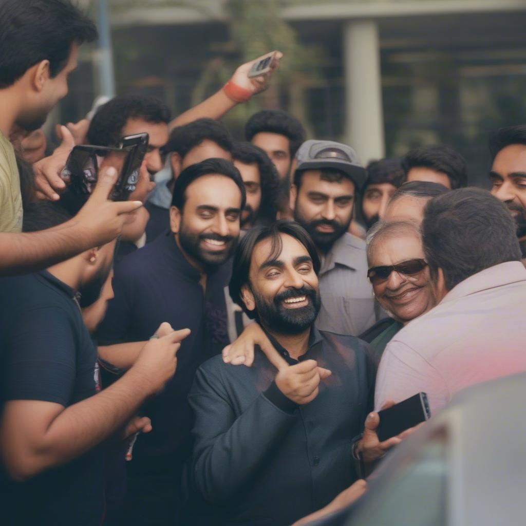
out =
[[[316,320],[321,306],[320,293],[304,285],[300,289],[289,289],[277,294],[267,301],[258,292],[252,290],[256,302],[257,319],[261,325],[279,334],[300,334],[308,329]],[[287,309],[283,301],[288,298],[305,296],[308,305],[300,308]]]

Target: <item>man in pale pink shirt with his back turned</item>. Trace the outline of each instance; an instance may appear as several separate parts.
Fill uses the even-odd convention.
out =
[[[465,387],[526,371],[526,269],[509,211],[463,188],[432,199],[421,228],[438,305],[387,345],[377,410],[424,391],[434,414]]]

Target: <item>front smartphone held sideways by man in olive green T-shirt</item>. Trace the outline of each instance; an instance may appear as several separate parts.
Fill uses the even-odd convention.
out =
[[[110,199],[125,201],[133,190],[135,183],[130,178],[129,166],[133,162],[135,147],[108,148],[104,146],[75,146],[62,170],[62,178],[69,182],[69,190],[76,195],[87,196],[97,184],[99,171],[106,166],[113,166],[119,177],[112,190]]]

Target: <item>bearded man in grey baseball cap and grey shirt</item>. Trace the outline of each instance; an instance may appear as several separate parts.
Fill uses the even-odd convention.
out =
[[[355,150],[334,141],[307,140],[297,158],[290,208],[294,219],[309,232],[322,262],[322,307],[316,326],[359,335],[379,317],[367,279],[365,242],[347,232],[366,170]]]

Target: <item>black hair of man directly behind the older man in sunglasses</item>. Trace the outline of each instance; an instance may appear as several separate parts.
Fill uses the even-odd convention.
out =
[[[468,184],[466,159],[445,144],[423,146],[408,151],[402,158],[402,168],[406,177],[411,168],[419,167],[431,168],[446,174],[452,190],[463,188]]]

